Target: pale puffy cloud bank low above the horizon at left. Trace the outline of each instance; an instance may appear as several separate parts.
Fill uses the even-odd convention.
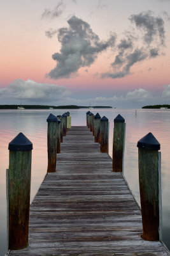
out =
[[[36,83],[28,79],[16,79],[8,88],[0,89],[0,99],[26,100],[29,102],[52,102],[64,99],[70,94],[63,86],[48,83]]]

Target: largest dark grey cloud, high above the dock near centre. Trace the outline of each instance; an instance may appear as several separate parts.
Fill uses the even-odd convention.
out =
[[[80,67],[90,67],[99,53],[115,45],[115,34],[101,41],[90,25],[76,16],[67,20],[67,23],[69,28],[60,28],[58,31],[61,49],[52,55],[57,65],[47,75],[52,79],[68,78],[76,74]]]

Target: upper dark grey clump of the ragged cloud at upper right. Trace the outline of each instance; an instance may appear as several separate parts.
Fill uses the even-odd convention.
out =
[[[155,17],[151,11],[131,15],[131,22],[136,24],[136,27],[143,29],[143,39],[146,44],[151,44],[155,39],[159,39],[160,44],[164,45],[165,31],[164,20],[161,17]]]

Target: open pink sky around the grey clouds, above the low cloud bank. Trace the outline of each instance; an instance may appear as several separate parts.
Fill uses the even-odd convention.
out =
[[[119,95],[122,92],[125,96],[125,93],[139,88],[148,92],[162,93],[164,86],[170,84],[170,33],[168,29],[170,13],[167,12],[170,10],[170,1],[150,0],[148,3],[145,0],[146,3],[141,4],[139,0],[132,0],[132,3],[120,8],[124,2],[122,0],[114,1],[114,4],[107,0],[95,0],[93,3],[63,0],[57,2],[60,3],[60,14],[57,17],[52,18],[46,15],[43,19],[42,14],[45,10],[48,10],[48,14],[53,13],[57,6],[56,1],[50,0],[48,4],[46,1],[41,1],[41,5],[39,1],[32,2],[31,0],[22,4],[8,2],[10,4],[1,3],[0,27],[3,40],[1,40],[0,50],[0,88],[8,88],[16,79],[23,81],[31,79],[36,83],[64,86],[76,98],[76,91],[80,97],[81,92],[85,90],[98,90],[103,93],[108,90],[112,92],[111,97],[115,96],[115,92],[119,92]],[[78,19],[89,24],[92,32],[99,36],[101,42],[108,40],[110,31],[116,33],[118,45],[118,40],[124,37],[125,31],[136,29],[129,21],[129,17],[141,12],[146,13],[148,10],[153,12],[154,17],[161,17],[164,20],[165,47],[161,46],[159,56],[156,58],[135,63],[130,69],[130,74],[125,77],[101,78],[103,73],[113,73],[111,63],[118,54],[118,49],[106,49],[98,54],[89,67],[78,68],[77,72],[73,72],[69,78],[46,77],[46,74],[56,66],[56,61],[52,60],[52,54],[60,52],[62,45],[57,40],[57,33],[52,38],[48,38],[45,36],[45,31],[69,28],[67,20],[74,14]],[[139,40],[138,44],[138,47],[143,47]]]

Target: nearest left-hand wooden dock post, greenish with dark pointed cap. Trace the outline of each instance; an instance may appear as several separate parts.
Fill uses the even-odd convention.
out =
[[[32,143],[20,132],[8,149],[8,249],[20,250],[28,245]]]

